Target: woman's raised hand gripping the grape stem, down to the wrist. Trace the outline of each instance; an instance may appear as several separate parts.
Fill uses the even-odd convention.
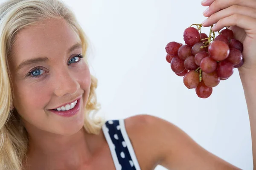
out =
[[[203,26],[212,26],[219,31],[225,26],[234,32],[234,37],[243,43],[244,64],[239,68],[241,75],[256,71],[256,1],[255,0],[206,0],[209,6],[204,12],[207,20]]]

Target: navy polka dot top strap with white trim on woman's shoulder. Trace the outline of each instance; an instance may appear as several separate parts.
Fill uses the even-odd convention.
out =
[[[116,170],[140,170],[124,119],[109,120],[102,126]]]

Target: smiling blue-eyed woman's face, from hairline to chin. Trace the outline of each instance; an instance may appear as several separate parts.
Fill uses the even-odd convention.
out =
[[[9,58],[13,106],[29,133],[43,130],[71,135],[83,127],[91,77],[80,58],[80,44],[79,37],[61,19],[17,34]]]

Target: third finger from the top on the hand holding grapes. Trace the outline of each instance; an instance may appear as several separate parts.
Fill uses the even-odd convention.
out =
[[[215,14],[212,14],[212,16],[207,18],[207,20],[205,20],[202,23],[202,26],[205,26],[205,27],[212,26],[213,24],[217,23],[218,20],[221,20],[221,18],[225,18],[233,14],[241,14],[248,17],[256,18],[256,9],[245,7],[245,6],[233,5],[221,11],[218,11]]]

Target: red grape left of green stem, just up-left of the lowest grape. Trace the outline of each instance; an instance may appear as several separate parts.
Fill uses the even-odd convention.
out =
[[[191,89],[196,88],[199,84],[199,73],[196,71],[189,71],[183,77],[184,85]]]

